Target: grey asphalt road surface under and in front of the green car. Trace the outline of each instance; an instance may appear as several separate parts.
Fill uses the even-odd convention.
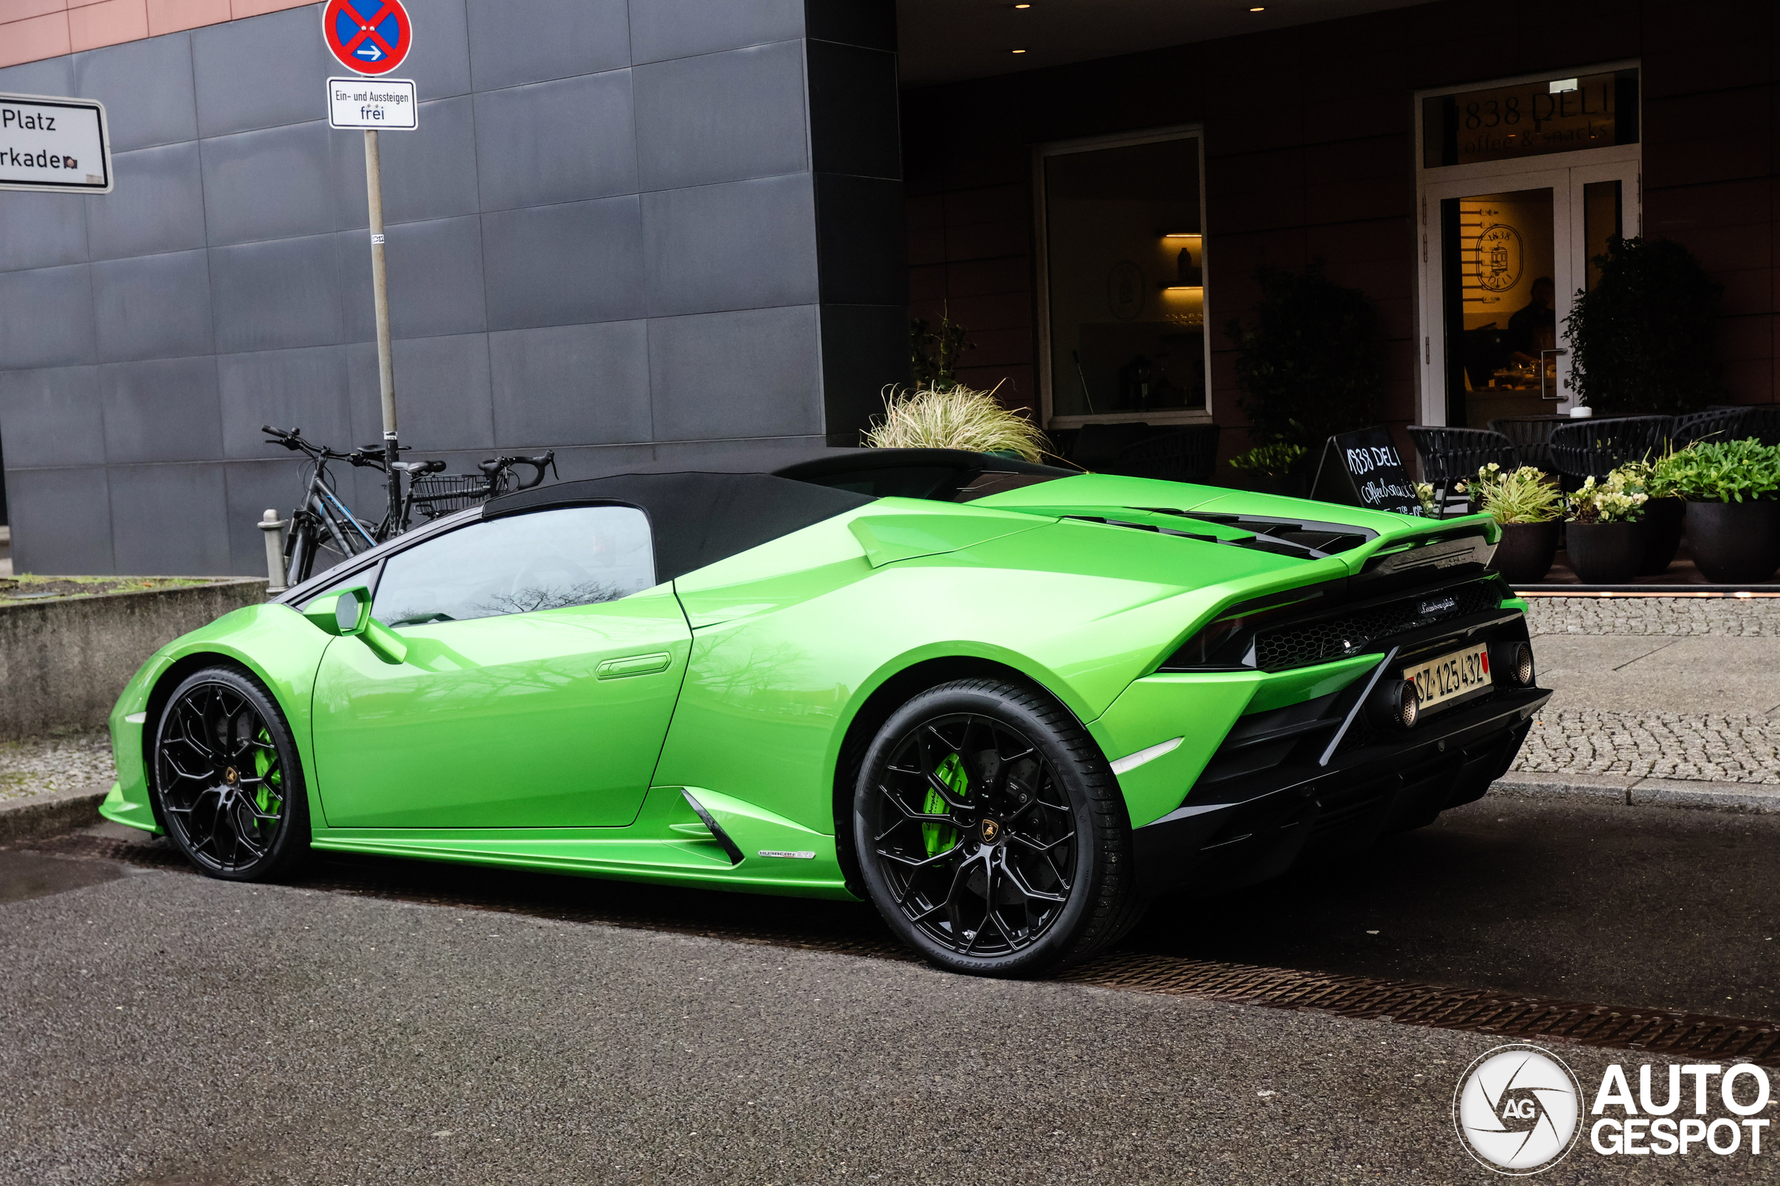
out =
[[[1773,1015],[1775,827],[1485,802],[1130,942]],[[883,950],[831,903],[0,853],[0,1182],[1497,1181],[1451,1101],[1499,1038],[313,887],[342,882]],[[1561,1053],[1588,1088],[1641,1062]],[[1584,1143],[1540,1181],[1780,1174]]]

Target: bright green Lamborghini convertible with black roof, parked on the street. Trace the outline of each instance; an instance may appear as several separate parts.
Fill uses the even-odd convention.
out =
[[[1481,797],[1550,695],[1495,539],[949,450],[646,464],[162,647],[103,813],[237,880],[322,848],[867,898],[1036,974]]]

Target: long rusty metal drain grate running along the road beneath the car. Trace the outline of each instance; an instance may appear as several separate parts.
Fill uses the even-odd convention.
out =
[[[125,864],[182,869],[190,866],[167,845],[126,843],[98,836],[59,836],[36,841],[36,852],[80,857],[100,857]],[[756,942],[805,951],[835,955],[867,955],[876,958],[913,960],[915,957],[890,935],[879,930],[876,916],[856,914],[844,928],[776,928],[742,925],[730,919],[687,921],[685,916],[660,914],[648,909],[623,909],[614,903],[587,903],[582,894],[566,891],[548,900],[518,885],[518,877],[491,878],[488,887],[427,893],[417,889],[406,877],[390,878],[390,869],[413,869],[409,862],[381,862],[376,866],[324,866],[345,877],[303,878],[304,889],[324,889],[365,898],[449,905],[498,914],[525,914],[568,923],[602,923],[641,930],[662,930],[682,935],[705,935],[732,942]],[[538,882],[527,882],[538,884]],[[548,877],[545,884],[573,885],[573,878]],[[643,891],[648,893],[648,891]],[[657,891],[660,893],[660,891]],[[1159,992],[1193,996],[1210,1001],[1258,1005],[1266,1008],[1310,1010],[1337,1017],[1394,1021],[1404,1026],[1431,1026],[1493,1037],[1525,1038],[1552,1044],[1597,1046],[1607,1049],[1650,1051],[1675,1058],[1709,1058],[1712,1062],[1750,1062],[1780,1067],[1780,1024],[1707,1014],[1682,1014],[1661,1008],[1629,1008],[1616,1005],[1590,1005],[1558,1001],[1515,992],[1486,989],[1454,989],[1424,985],[1406,980],[1374,980],[1308,973],[1285,967],[1255,967],[1246,964],[1219,964],[1189,960],[1173,955],[1145,955],[1118,951],[1080,967],[1070,969],[1059,980],[1066,983],[1118,989],[1123,992]]]

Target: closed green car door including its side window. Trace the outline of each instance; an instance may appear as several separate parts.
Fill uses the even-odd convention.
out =
[[[388,557],[386,663],[336,638],[315,683],[328,827],[614,827],[650,786],[691,629],[648,516],[554,507]]]

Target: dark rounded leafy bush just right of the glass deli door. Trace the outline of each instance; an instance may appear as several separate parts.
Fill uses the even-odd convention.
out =
[[[1700,261],[1670,238],[1622,238],[1593,263],[1600,277],[1565,318],[1575,402],[1675,416],[1719,397],[1719,366],[1702,347],[1714,340],[1721,288]]]

